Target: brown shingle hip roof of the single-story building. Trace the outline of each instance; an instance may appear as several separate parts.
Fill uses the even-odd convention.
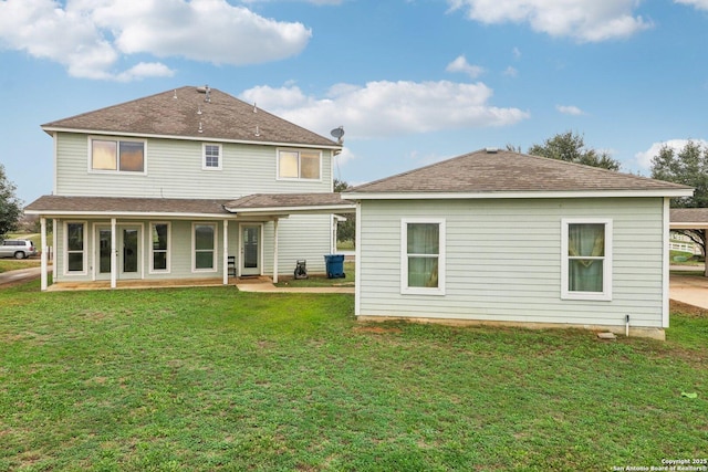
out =
[[[365,193],[689,190],[678,183],[507,150],[478,150],[355,187]]]

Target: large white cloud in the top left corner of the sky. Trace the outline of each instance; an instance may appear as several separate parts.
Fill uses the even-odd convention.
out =
[[[227,0],[0,1],[0,46],[63,64],[70,75],[135,80],[173,73],[159,63],[116,72],[131,54],[253,64],[300,53],[312,35]]]

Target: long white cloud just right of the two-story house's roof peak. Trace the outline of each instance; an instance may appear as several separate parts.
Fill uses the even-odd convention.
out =
[[[491,95],[482,83],[381,81],[337,84],[323,98],[308,96],[295,85],[254,87],[241,98],[325,136],[343,125],[345,140],[508,126],[529,117],[519,108],[489,105]]]

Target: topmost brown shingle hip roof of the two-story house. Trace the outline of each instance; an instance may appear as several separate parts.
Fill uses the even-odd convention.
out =
[[[197,87],[185,86],[46,123],[42,128],[341,147],[331,139],[263,109],[256,109],[253,104],[219,90],[210,88],[209,95],[210,102],[207,103],[205,93]]]

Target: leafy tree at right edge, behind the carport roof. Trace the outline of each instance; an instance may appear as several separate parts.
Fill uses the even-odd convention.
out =
[[[671,199],[674,208],[708,208],[708,147],[689,140],[676,151],[667,145],[652,158],[652,177],[669,182],[684,183],[696,190],[691,197]],[[705,229],[677,230],[697,243],[706,255]],[[708,264],[706,266],[708,276]]]

